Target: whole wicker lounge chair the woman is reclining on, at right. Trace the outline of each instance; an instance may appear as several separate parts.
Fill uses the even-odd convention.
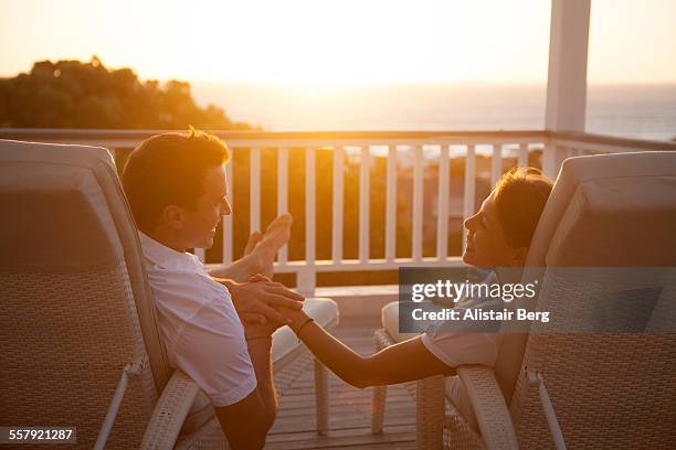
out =
[[[548,268],[538,309],[580,326],[599,299],[657,288],[646,332],[540,333],[536,323],[528,335],[506,334],[495,369],[463,366],[445,381],[446,405],[441,377],[418,382],[419,448],[674,448],[674,224],[676,152],[567,160],[527,259]],[[553,269],[591,266],[669,275],[590,285]],[[395,322],[383,326],[380,347],[397,339]],[[374,411],[383,397],[374,396]]]

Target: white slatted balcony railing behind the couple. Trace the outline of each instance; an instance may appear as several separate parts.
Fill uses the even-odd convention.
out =
[[[68,142],[115,148],[134,148],[158,131],[106,131],[106,130],[0,130],[0,138],[46,142]],[[402,266],[462,266],[457,255],[447,255],[450,160],[455,156],[465,158],[465,176],[462,216],[474,213],[476,205],[477,154],[492,158],[489,176],[495,185],[503,173],[506,157],[527,164],[529,152],[542,150],[542,167],[556,176],[563,159],[619,151],[676,150],[676,143],[638,141],[609,138],[587,133],[548,131],[488,131],[488,132],[215,132],[234,152],[250,150],[250,229],[261,229],[261,149],[275,149],[277,158],[277,213],[288,212],[288,159],[289,149],[300,148],[305,152],[305,259],[289,260],[288,250],[279,250],[275,271],[295,272],[297,287],[303,292],[313,292],[316,274],[321,271],[388,270]],[[330,259],[316,258],[316,154],[317,149],[332,150],[332,231]],[[344,169],[346,152],[359,156],[359,225],[358,257],[346,259],[344,246]],[[384,258],[372,258],[370,243],[370,176],[373,154],[387,158],[385,170],[385,236]],[[405,161],[401,156],[406,156]],[[423,255],[423,189],[425,164],[439,164],[436,250],[434,256]],[[411,257],[397,257],[397,195],[398,165],[412,167],[413,204],[411,217]],[[469,176],[467,176],[469,174]],[[233,189],[232,164],[228,165],[230,200],[237,195]],[[235,212],[236,214],[236,212]],[[233,216],[223,219],[223,260],[233,260]],[[464,236],[463,236],[464,242]],[[463,244],[464,245],[464,244]],[[196,251],[202,259],[204,250]],[[210,261],[214,262],[214,261]],[[218,261],[216,261],[218,262]]]

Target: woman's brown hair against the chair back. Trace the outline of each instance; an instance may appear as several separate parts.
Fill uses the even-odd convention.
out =
[[[507,244],[528,247],[553,183],[539,169],[513,168],[498,181],[493,199]]]

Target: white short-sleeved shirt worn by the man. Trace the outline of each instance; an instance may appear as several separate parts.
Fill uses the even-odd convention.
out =
[[[244,399],[256,376],[230,292],[197,256],[139,236],[169,362],[194,379],[213,406]]]

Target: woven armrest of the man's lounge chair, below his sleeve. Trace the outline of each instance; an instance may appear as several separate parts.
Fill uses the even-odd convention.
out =
[[[148,422],[141,449],[172,449],[200,388],[182,371],[171,375]]]

